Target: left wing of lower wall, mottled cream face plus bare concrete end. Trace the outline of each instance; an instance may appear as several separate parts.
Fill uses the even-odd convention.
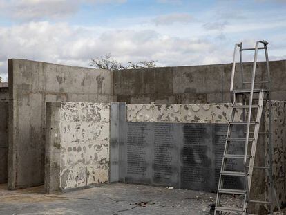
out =
[[[48,103],[46,191],[108,182],[109,109],[109,104]]]

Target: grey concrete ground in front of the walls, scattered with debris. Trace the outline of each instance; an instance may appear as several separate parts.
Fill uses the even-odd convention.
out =
[[[8,191],[0,185],[0,214],[206,215],[215,199],[213,193],[122,183],[64,194],[44,194],[43,186]],[[239,197],[227,201],[238,204]]]

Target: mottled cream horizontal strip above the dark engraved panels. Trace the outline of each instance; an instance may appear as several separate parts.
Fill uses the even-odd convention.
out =
[[[127,104],[128,122],[226,123],[231,104]],[[236,110],[240,120],[242,110]]]

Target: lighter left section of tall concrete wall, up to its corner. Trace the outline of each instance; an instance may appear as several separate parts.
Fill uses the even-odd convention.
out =
[[[44,183],[46,102],[109,102],[110,71],[9,59],[9,189]]]

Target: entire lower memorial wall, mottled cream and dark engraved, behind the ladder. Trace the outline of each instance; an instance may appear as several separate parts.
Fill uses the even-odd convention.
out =
[[[57,105],[53,105],[56,110]],[[46,167],[50,169],[46,169],[46,176],[50,178],[46,178],[46,182],[58,182],[49,183],[52,185],[50,190],[119,181],[216,191],[231,104],[113,102],[110,106],[99,105],[97,109],[98,105],[60,103],[57,110],[60,109],[61,114],[47,113],[47,123],[50,124],[47,124],[46,156],[50,156],[50,160],[46,159]],[[273,101],[271,109],[274,180],[280,205],[283,205],[286,103]],[[241,115],[242,111],[238,111],[237,120]],[[262,121],[266,129],[267,117],[268,110]],[[57,127],[60,130],[54,129]],[[234,129],[233,137],[244,135],[241,125]],[[268,149],[264,138],[258,140],[256,160],[260,165]],[[243,144],[231,144],[230,153],[242,154],[243,151]],[[61,157],[53,157],[59,153]],[[88,170],[92,167],[90,163],[96,163],[92,171]],[[233,169],[242,171],[241,160],[229,160],[227,170]],[[267,194],[264,178],[265,174],[255,173],[253,189],[256,199]],[[243,186],[243,178],[229,177],[225,181],[228,188]]]

